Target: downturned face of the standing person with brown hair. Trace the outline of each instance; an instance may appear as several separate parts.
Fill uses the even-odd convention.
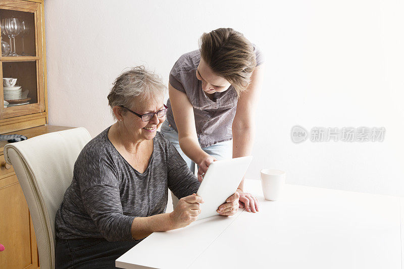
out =
[[[213,73],[212,69],[200,58],[198,68],[196,69],[196,78],[202,81],[202,89],[206,93],[215,93],[226,91],[230,87],[230,83]]]

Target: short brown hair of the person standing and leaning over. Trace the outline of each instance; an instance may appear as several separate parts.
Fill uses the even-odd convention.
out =
[[[254,46],[240,32],[219,28],[199,39],[200,56],[212,71],[233,85],[237,95],[246,90],[256,67]]]

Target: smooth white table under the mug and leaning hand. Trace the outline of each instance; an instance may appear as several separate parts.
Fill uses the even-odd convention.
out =
[[[151,234],[116,260],[121,268],[401,268],[399,197],[286,184],[279,201],[245,189],[260,212],[212,217]],[[401,208],[400,208],[401,204]]]

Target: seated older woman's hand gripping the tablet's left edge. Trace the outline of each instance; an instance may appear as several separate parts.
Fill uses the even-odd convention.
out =
[[[195,193],[179,199],[177,207],[169,215],[173,229],[188,226],[196,221],[200,213],[199,203],[204,203],[204,199]]]

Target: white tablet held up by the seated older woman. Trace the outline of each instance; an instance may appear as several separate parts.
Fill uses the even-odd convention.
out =
[[[233,195],[249,164],[252,156],[245,156],[226,160],[217,160],[210,164],[199,186],[196,195],[204,198],[200,204],[198,220],[206,219],[219,213],[218,207]]]

